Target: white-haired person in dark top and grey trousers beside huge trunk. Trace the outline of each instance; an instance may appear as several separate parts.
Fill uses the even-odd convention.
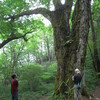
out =
[[[81,100],[81,80],[82,76],[78,68],[75,69],[75,75],[72,76],[74,82],[74,100]]]

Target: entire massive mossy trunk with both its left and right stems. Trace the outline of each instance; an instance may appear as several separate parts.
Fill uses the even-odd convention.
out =
[[[68,23],[65,19],[64,9],[59,9],[54,12],[52,25],[58,66],[55,94],[58,97],[60,94],[66,94],[66,91],[68,92],[71,89],[71,77],[75,67],[78,67],[82,75],[84,75],[89,31],[89,0],[77,0],[72,18],[72,32],[70,32]],[[69,80],[69,83],[66,83],[67,80]],[[85,82],[83,81],[82,83],[85,86]],[[65,99],[63,98],[63,100]]]

